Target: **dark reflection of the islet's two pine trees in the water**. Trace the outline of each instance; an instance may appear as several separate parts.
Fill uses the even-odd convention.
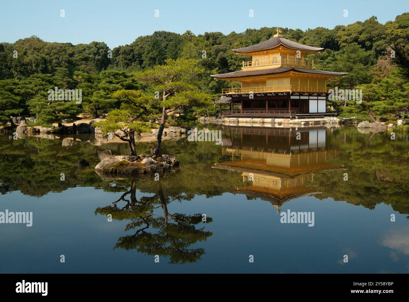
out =
[[[164,195],[162,183],[157,181],[157,192],[153,196],[143,196],[136,198],[136,180],[131,182],[130,189],[110,206],[100,207],[95,210],[95,214],[112,214],[113,219],[129,219],[125,230],[134,230],[132,235],[119,237],[115,248],[125,250],[137,250],[148,255],[159,255],[169,257],[169,263],[183,264],[198,261],[205,254],[203,248],[189,248],[198,241],[206,241],[212,235],[196,225],[202,223],[202,214],[171,214],[168,211],[168,204],[172,201],[186,200],[190,197],[178,195],[168,197]],[[129,199],[127,199],[127,197]],[[123,207],[119,207],[119,202],[125,202]],[[161,214],[157,214],[157,209],[162,209]],[[163,212],[163,213],[162,213]],[[207,217],[206,222],[212,219]],[[148,232],[148,230],[156,232]]]

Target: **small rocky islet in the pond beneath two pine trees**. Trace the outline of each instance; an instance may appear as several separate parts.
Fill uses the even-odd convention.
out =
[[[153,159],[144,153],[138,156],[115,156],[110,150],[104,150],[98,152],[98,157],[101,162],[95,166],[95,170],[109,175],[138,175],[173,171],[179,165],[179,160],[174,155],[162,155]]]

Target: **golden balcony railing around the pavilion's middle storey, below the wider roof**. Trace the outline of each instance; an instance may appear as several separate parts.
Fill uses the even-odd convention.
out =
[[[249,88],[225,88],[222,89],[222,95],[226,94],[238,94],[238,93],[261,93],[261,92],[328,92],[329,87],[312,87],[312,86],[260,86],[260,87],[249,87]]]

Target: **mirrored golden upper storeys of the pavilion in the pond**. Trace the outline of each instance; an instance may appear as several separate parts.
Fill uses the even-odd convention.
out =
[[[339,168],[327,163],[336,155],[333,150],[283,154],[223,148],[222,153],[230,160],[213,167],[242,173],[245,186],[235,192],[270,201],[276,207],[295,197],[319,193],[305,186],[314,181],[314,172]]]

